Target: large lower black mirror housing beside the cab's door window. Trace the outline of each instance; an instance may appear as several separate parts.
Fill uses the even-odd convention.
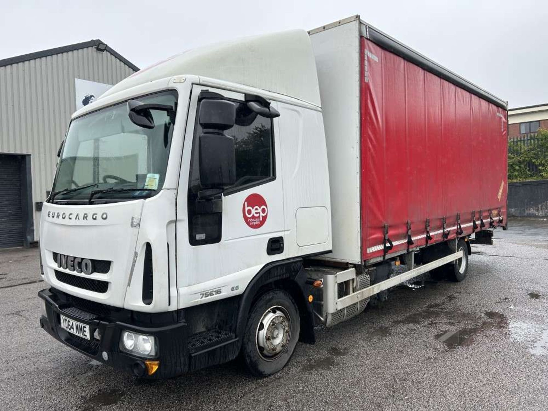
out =
[[[234,139],[226,134],[202,134],[199,168],[203,189],[224,189],[233,185],[236,182]]]

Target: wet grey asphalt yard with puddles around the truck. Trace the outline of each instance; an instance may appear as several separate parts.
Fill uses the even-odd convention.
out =
[[[239,362],[142,381],[39,328],[36,249],[0,252],[0,409],[548,409],[548,219],[473,245],[464,282],[398,287],[265,379]]]

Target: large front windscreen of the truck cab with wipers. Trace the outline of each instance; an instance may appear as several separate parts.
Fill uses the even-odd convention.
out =
[[[176,109],[174,90],[136,98]],[[175,114],[151,110],[153,128],[135,125],[127,101],[71,122],[50,201],[113,202],[149,197],[165,180]]]

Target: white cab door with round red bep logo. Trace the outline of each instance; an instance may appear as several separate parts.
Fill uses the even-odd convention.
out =
[[[207,197],[199,182],[202,92],[236,104],[236,124],[225,131],[235,140],[236,182],[215,198],[216,212],[197,206]],[[193,86],[177,201],[180,307],[242,293],[262,266],[285,258],[278,121],[256,115],[242,93]]]

